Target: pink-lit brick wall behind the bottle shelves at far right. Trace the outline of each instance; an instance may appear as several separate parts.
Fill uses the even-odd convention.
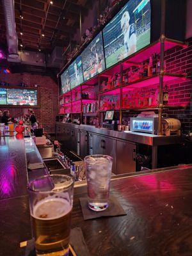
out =
[[[184,74],[191,78],[192,70],[192,41],[189,47],[175,47],[165,54],[166,71]],[[192,81],[179,80],[168,83],[169,104],[186,106],[186,109],[166,111],[169,117],[178,118],[182,122],[184,132],[192,131]]]

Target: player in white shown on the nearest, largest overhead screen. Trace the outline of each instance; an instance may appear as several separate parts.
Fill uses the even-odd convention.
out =
[[[121,19],[121,29],[124,34],[124,53],[123,58],[136,52],[136,24],[129,24],[130,15],[128,11],[125,11]]]

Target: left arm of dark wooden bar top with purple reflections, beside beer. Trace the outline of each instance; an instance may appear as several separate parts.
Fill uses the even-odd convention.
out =
[[[0,137],[0,255],[24,255],[20,241],[31,238],[28,180],[45,175],[45,168],[28,172],[28,164],[42,163],[33,138]]]

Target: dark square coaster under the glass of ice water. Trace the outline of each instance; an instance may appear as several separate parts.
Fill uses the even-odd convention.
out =
[[[95,218],[101,217],[109,217],[109,216],[120,216],[120,215],[127,215],[122,205],[118,202],[115,196],[109,197],[109,207],[100,212],[92,211],[88,207],[88,198],[81,197],[79,198],[81,204],[81,210],[83,212],[84,220],[91,220]]]

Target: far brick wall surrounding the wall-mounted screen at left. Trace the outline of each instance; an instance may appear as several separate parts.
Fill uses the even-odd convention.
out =
[[[54,132],[55,117],[58,115],[58,85],[48,76],[33,74],[4,74],[0,72],[0,81],[17,86],[24,83],[29,87],[38,84],[40,93],[40,108],[34,108],[36,118],[40,125],[43,125],[45,131]],[[4,110],[3,108],[0,109]],[[21,116],[23,108],[8,108],[11,116]]]

